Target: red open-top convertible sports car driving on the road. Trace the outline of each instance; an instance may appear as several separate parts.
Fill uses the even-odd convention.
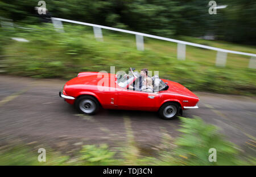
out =
[[[79,73],[64,85],[59,95],[88,115],[102,107],[158,111],[162,119],[171,120],[182,115],[184,109],[199,108],[199,98],[193,92],[177,82],[157,76],[152,77],[154,92],[130,90],[129,86],[139,78],[139,73],[134,70],[130,68],[129,74]]]

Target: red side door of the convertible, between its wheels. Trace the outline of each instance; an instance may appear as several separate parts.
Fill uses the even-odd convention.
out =
[[[158,94],[122,89],[118,91],[118,109],[156,111]]]

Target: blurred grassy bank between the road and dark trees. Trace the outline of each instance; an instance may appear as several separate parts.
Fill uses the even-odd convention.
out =
[[[215,66],[216,51],[187,46],[186,60],[176,57],[176,43],[144,38],[144,51],[138,51],[135,36],[103,30],[104,41],[94,39],[91,27],[64,24],[65,33],[52,24],[29,26],[34,30],[0,31],[1,54],[6,73],[35,78],[76,77],[82,71],[127,70],[129,67],[159,71],[160,78],[179,82],[192,91],[256,95],[256,70],[248,69],[249,57],[228,54],[225,68]],[[29,43],[11,40],[23,37]],[[195,37],[180,40],[255,53],[255,48]]]

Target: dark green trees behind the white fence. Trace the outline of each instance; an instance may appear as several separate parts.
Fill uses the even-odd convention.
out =
[[[255,44],[256,2],[218,0],[228,5],[210,15],[209,1],[201,0],[46,0],[52,16],[105,26],[127,28],[164,37],[214,35],[218,40]],[[0,16],[40,22],[38,0],[0,2]]]

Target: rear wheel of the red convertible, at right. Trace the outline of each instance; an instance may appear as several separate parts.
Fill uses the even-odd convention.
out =
[[[180,112],[180,106],[177,103],[164,103],[159,109],[159,116],[164,120],[172,120],[177,117]]]

